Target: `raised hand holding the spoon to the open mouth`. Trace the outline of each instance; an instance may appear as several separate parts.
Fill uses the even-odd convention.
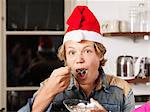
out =
[[[67,89],[70,84],[70,72],[71,68],[68,66],[55,69],[45,83],[47,93],[55,96]]]

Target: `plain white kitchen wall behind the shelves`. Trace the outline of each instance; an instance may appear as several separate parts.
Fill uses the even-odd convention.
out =
[[[141,1],[141,0],[140,0]],[[139,0],[88,0],[87,5],[99,22],[104,20],[129,21],[129,7],[137,5]],[[128,37],[104,37],[103,43],[107,48],[105,66],[106,73],[116,75],[116,60],[120,55],[150,57],[150,40],[142,38],[135,42]]]

